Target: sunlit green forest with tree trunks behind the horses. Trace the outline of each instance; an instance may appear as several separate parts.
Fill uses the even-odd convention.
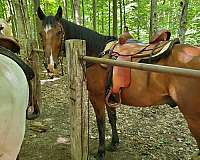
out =
[[[148,42],[165,28],[182,43],[200,44],[199,0],[1,0],[0,18],[10,20],[22,48],[39,42],[38,6],[46,15],[61,6],[63,18],[104,35],[119,36],[128,26],[134,39]]]

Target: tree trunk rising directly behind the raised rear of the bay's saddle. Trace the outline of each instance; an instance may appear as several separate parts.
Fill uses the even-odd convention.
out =
[[[149,40],[157,32],[157,0],[151,0]]]

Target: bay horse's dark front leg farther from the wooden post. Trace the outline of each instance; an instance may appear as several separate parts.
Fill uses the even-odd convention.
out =
[[[106,109],[108,112],[109,123],[112,129],[112,141],[111,141],[110,146],[108,147],[108,150],[115,151],[119,144],[119,137],[118,137],[117,126],[116,126],[116,121],[117,121],[116,109],[111,108],[109,106],[107,106]]]

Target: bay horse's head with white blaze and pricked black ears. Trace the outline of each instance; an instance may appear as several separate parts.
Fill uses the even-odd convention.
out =
[[[61,24],[62,8],[59,7],[55,16],[46,16],[39,7],[37,10],[39,19],[42,21],[40,36],[44,49],[44,66],[48,75],[53,77],[57,74],[57,66],[61,51],[64,47],[64,29]]]

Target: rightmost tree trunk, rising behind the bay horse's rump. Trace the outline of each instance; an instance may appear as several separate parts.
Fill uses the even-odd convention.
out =
[[[181,13],[180,13],[180,23],[179,23],[179,39],[181,43],[185,42],[185,33],[187,31],[187,10],[188,10],[188,0],[182,0],[180,2]]]

